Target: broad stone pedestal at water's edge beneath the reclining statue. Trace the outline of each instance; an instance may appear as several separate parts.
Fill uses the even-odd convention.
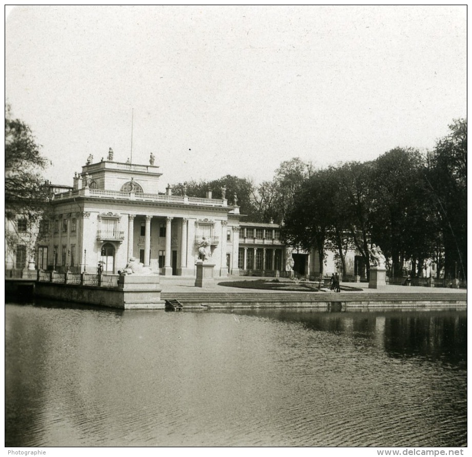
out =
[[[118,289],[123,291],[124,309],[164,309],[159,274],[120,276]]]

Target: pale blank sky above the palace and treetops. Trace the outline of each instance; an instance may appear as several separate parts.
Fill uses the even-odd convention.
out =
[[[164,183],[270,180],[396,146],[466,117],[466,6],[15,7],[6,101],[72,185],[87,156]]]

